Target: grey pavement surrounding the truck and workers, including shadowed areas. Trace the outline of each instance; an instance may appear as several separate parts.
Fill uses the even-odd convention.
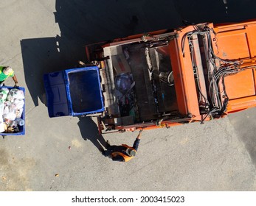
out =
[[[184,19],[255,18],[255,3],[240,2],[1,0],[0,65],[11,65],[26,88],[26,135],[0,139],[0,191],[255,191],[255,108],[145,131],[136,158],[115,163],[97,150],[97,138],[132,144],[137,132],[101,137],[94,119],[49,118],[42,78],[84,60],[86,43]]]

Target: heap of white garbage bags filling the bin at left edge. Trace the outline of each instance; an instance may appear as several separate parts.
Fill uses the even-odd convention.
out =
[[[24,92],[18,88],[0,88],[0,132],[19,132],[24,125]]]

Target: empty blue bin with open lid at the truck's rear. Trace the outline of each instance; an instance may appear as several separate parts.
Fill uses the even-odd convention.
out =
[[[105,110],[97,66],[44,74],[49,117],[82,116]]]

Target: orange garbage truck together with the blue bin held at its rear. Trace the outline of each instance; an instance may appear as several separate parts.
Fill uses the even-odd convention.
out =
[[[44,74],[50,117],[99,132],[172,127],[256,105],[256,21],[191,24],[86,46],[88,63]]]

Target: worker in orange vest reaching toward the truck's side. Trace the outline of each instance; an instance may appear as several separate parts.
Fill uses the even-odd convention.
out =
[[[103,151],[103,155],[105,157],[111,157],[113,161],[120,161],[120,162],[128,162],[137,153],[139,147],[140,136],[142,134],[142,130],[139,131],[139,135],[136,137],[134,141],[134,146],[128,146],[126,144],[122,144],[120,146],[117,145],[110,145],[107,141],[106,150]]]

